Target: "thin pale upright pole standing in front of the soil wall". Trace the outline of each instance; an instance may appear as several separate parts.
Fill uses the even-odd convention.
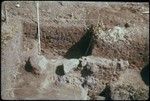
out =
[[[40,22],[39,22],[39,2],[37,2],[37,22],[38,22],[38,49],[39,49],[39,54],[41,54]]]

